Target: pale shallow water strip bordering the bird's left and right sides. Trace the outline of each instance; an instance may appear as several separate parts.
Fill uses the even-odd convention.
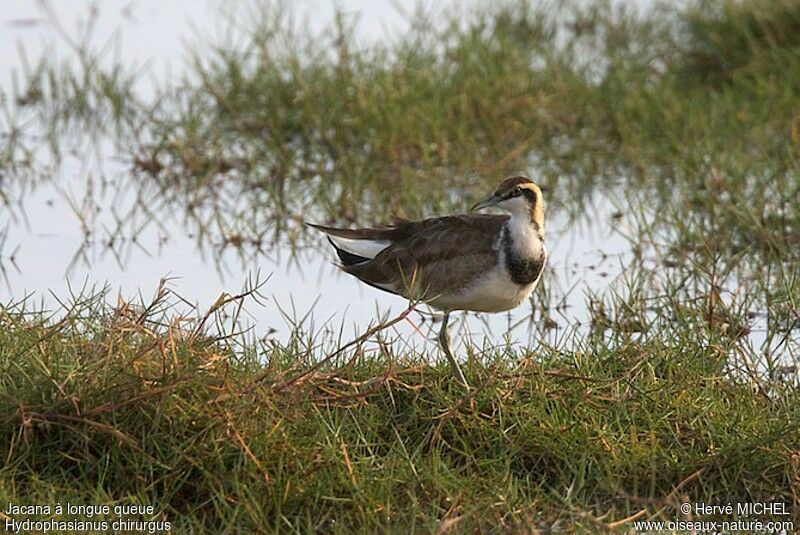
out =
[[[249,323],[256,332],[274,331],[283,337],[295,319],[313,314],[304,327],[317,330],[322,324],[334,331],[359,331],[384,314],[397,314],[407,303],[398,297],[358,283],[334,265],[334,255],[322,236],[311,236],[312,246],[296,248],[286,243],[261,250],[243,246],[216,247],[199,239],[183,214],[157,209],[158,220],[150,220],[136,209],[133,195],[120,194],[114,184],[87,179],[81,162],[68,159],[60,168],[56,183],[44,183],[24,196],[20,206],[6,214],[4,251],[5,284],[3,301],[27,295],[55,306],[54,296],[66,300],[83,288],[109,285],[114,293],[147,299],[162,277],[171,279],[170,288],[200,309],[211,305],[222,292],[235,293],[249,279],[260,274],[268,278],[262,292],[263,306],[251,304]],[[105,165],[105,177],[125,180],[129,169],[120,164]],[[464,206],[473,202],[464,199]],[[558,213],[548,214],[547,240],[550,259],[546,284],[550,290],[552,319],[561,329],[585,324],[585,292],[602,292],[618,274],[630,255],[624,238],[624,218],[612,224],[613,205],[597,201],[585,222],[570,222]],[[82,213],[79,217],[76,212]],[[113,242],[115,214],[127,218]],[[81,222],[84,218],[85,224]],[[598,222],[600,224],[598,224]],[[85,234],[85,229],[90,234]],[[135,235],[135,241],[132,236]],[[110,245],[109,245],[110,244]],[[495,337],[510,325],[514,339],[527,340],[531,326],[539,321],[530,304],[510,314],[468,315],[466,332]],[[414,320],[420,321],[420,318]],[[430,322],[427,322],[430,323]],[[412,332],[411,326],[401,333]],[[557,329],[556,329],[557,330]],[[424,330],[423,330],[424,332]],[[497,342],[500,342],[498,339]]]

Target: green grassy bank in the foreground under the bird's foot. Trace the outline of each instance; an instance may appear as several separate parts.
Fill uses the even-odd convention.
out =
[[[232,346],[159,299],[3,312],[4,503],[152,504],[180,531],[595,530],[800,490],[796,388],[726,371],[737,343],[710,330],[501,347],[465,397],[374,337],[314,369],[336,347]]]

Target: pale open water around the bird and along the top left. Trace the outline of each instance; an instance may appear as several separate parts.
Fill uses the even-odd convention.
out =
[[[54,3],[48,15],[36,4],[15,1],[5,5],[0,46],[13,50],[23,42],[28,58],[48,53],[69,61],[65,35],[81,35],[86,14],[96,9],[92,40],[115,43],[126,63],[148,64],[149,75],[137,87],[147,95],[183,71],[184,43],[197,41],[191,36],[222,31],[218,22],[222,5],[185,0],[103,2],[95,7]],[[407,28],[407,21],[391,5],[363,0],[344,8],[360,15],[359,39],[374,42]],[[333,5],[327,2],[302,2],[293,4],[293,9],[298,20],[316,28],[333,18]],[[20,68],[17,54],[3,54],[0,87],[12,87]],[[178,309],[188,310],[191,303],[203,310],[221,293],[236,293],[259,276],[268,278],[262,288],[268,299],[261,305],[251,303],[244,323],[259,337],[280,339],[303,318],[305,329],[324,328],[332,336],[341,330],[347,337],[362,332],[376,318],[405,308],[404,300],[339,272],[321,236],[311,237],[313,246],[299,250],[281,243],[237,249],[209,242],[168,200],[153,192],[143,196],[131,187],[130,162],[115,159],[114,153],[108,142],[84,141],[37,186],[10,194],[11,203],[0,217],[0,229],[5,229],[0,236],[3,302],[32,296],[56,309],[59,299],[106,285],[112,295],[147,299],[167,277],[170,288],[186,301]],[[464,209],[474,201],[464,199]],[[507,314],[465,314],[460,326],[453,328],[459,339],[499,344],[508,335],[512,342],[535,347],[564,330],[586,325],[586,294],[603,293],[632,258],[625,238],[626,216],[617,212],[609,198],[597,197],[582,220],[570,221],[557,211],[547,214],[550,260],[545,284],[554,323],[545,324],[540,310],[524,303]],[[414,315],[395,332],[403,344],[432,349],[435,327],[431,327],[429,318]]]

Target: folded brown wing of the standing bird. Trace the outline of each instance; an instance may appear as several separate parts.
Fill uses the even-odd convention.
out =
[[[372,260],[343,269],[407,297],[457,292],[497,263],[494,242],[507,219],[470,214],[398,222],[391,227],[391,245]]]

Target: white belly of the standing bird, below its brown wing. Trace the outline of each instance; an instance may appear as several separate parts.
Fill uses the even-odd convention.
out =
[[[430,304],[444,310],[503,312],[516,308],[525,301],[538,282],[536,280],[521,286],[513,282],[505,267],[500,265],[471,287],[457,294],[442,295]]]

